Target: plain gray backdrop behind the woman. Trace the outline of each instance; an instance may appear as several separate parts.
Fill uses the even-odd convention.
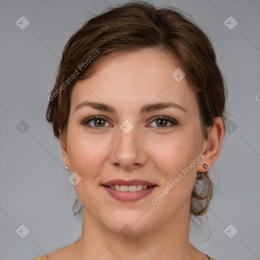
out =
[[[70,173],[45,119],[47,96],[70,36],[107,6],[126,2],[0,0],[1,260],[36,257],[81,235]],[[210,170],[217,190],[208,222],[203,218],[211,234],[192,226],[191,242],[219,260],[260,259],[260,1],[149,2],[193,17],[213,42],[229,90],[230,133]],[[16,25],[21,16],[29,21],[24,30]],[[230,16],[238,21],[233,29],[224,24]],[[29,229],[25,238],[16,233],[21,224]],[[224,233],[229,224],[238,230],[233,238]]]

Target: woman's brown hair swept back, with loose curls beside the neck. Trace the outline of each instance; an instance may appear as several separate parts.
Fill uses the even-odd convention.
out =
[[[226,120],[227,91],[210,40],[184,14],[174,7],[159,9],[139,1],[109,8],[84,23],[64,47],[56,83],[48,98],[46,118],[52,123],[54,135],[62,140],[66,134],[72,88],[78,80],[93,74],[90,68],[96,61],[109,55],[153,48],[170,53],[179,62],[186,81],[197,93],[202,133],[207,140],[207,126],[213,126],[214,118]],[[68,82],[73,74],[75,79]],[[208,172],[198,172],[191,195],[191,216],[206,213],[212,194]],[[77,203],[76,199],[73,210]],[[81,210],[82,206],[74,215]]]

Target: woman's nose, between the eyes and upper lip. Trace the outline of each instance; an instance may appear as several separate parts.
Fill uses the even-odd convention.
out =
[[[111,146],[111,164],[128,171],[144,166],[148,149],[135,127],[127,134],[118,128],[116,136]]]

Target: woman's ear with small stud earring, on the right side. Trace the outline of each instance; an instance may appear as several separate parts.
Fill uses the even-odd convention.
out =
[[[208,133],[208,140],[203,141],[204,158],[200,161],[198,166],[198,172],[207,172],[210,167],[215,163],[220,153],[222,140],[224,137],[224,125],[221,117],[215,117],[214,125],[211,127]],[[208,165],[208,168],[203,167],[204,164]]]

